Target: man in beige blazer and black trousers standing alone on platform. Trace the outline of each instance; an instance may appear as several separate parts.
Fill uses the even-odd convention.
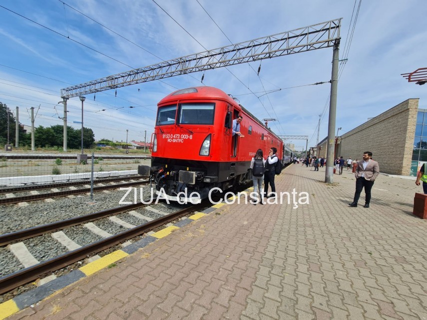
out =
[[[371,189],[374,185],[375,179],[380,174],[380,166],[377,161],[372,160],[372,152],[364,152],[363,160],[359,161],[356,164],[356,192],[355,197],[352,203],[349,204],[350,207],[357,207],[359,201],[360,193],[362,189],[365,188],[365,205],[364,208],[369,208],[369,203],[371,201]]]

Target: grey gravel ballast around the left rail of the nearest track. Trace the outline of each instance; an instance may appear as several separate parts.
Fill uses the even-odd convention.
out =
[[[140,190],[139,188],[136,188],[136,190],[139,199]],[[127,197],[126,201],[133,202],[133,191],[134,190],[132,190],[132,194]],[[97,192],[94,194],[94,203],[90,203],[90,196],[82,195],[73,199],[68,199],[66,197],[56,198],[54,202],[50,203],[44,201],[33,201],[25,207],[19,207],[17,205],[0,206],[0,234],[82,216],[95,211],[119,207],[119,201],[123,198],[125,193],[126,190],[114,190],[108,193]],[[144,200],[147,201],[149,189],[146,186],[142,193]],[[161,202],[153,204],[151,207],[164,213],[172,213],[184,208],[184,206],[175,207],[172,203],[167,205]],[[163,217],[163,215],[159,213],[143,208],[137,209],[136,211],[151,219]],[[134,217],[129,213],[121,213],[118,214],[117,217],[135,226],[147,222],[146,220]],[[127,230],[125,227],[112,222],[108,218],[93,221],[93,224],[111,235]],[[68,238],[80,246],[85,246],[102,239],[100,236],[92,233],[82,225],[70,227],[62,231]],[[33,257],[39,262],[54,258],[68,251],[67,248],[53,239],[51,234],[27,239],[24,240],[23,243]],[[14,255],[10,253],[7,246],[0,247],[0,277],[21,269],[23,269],[23,266],[14,257]]]

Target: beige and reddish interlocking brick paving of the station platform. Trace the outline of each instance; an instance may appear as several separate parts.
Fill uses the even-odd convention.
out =
[[[292,165],[277,191],[309,204],[223,206],[8,319],[427,320],[422,187],[380,175],[350,208],[351,172],[324,179]]]

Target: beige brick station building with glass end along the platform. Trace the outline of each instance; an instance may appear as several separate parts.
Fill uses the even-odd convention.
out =
[[[380,171],[393,175],[416,176],[427,162],[427,109],[419,109],[419,99],[408,99],[335,139],[335,157],[362,160],[371,151]],[[327,137],[315,147],[326,157]]]

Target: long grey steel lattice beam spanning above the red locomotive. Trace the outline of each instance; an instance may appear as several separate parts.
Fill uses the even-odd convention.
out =
[[[164,79],[229,65],[331,47],[340,39],[341,18],[190,54],[61,89],[62,98]]]

